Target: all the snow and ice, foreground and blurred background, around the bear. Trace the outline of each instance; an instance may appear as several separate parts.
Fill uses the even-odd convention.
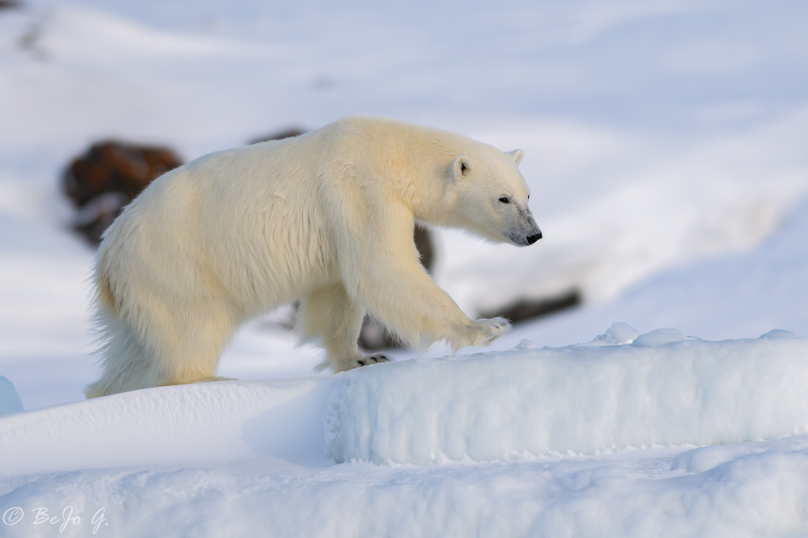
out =
[[[0,534],[808,534],[805,2],[28,6],[0,12]],[[280,311],[225,350],[242,381],[83,400],[69,158],[358,112],[524,148],[545,238],[438,230],[436,280],[472,315],[583,307],[316,377]]]

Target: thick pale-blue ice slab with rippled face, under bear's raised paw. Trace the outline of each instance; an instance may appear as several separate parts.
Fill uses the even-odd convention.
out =
[[[725,444],[808,431],[808,339],[633,344],[415,359],[331,388],[335,461],[427,464]],[[522,347],[526,347],[524,344]]]

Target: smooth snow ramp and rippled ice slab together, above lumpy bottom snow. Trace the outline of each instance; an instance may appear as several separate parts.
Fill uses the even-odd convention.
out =
[[[667,329],[603,345],[627,337],[613,327],[591,345],[523,342],[332,376],[137,390],[0,418],[0,474],[261,456],[503,461],[773,439],[808,432],[808,339],[789,335],[710,342]]]

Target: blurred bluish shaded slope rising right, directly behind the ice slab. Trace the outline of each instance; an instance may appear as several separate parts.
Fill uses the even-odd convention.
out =
[[[615,319],[642,331],[677,327],[710,340],[760,335],[772,327],[805,336],[806,244],[808,199],[759,248],[683,264],[631,286],[617,300],[525,323],[494,348],[523,338],[549,345],[586,342]]]

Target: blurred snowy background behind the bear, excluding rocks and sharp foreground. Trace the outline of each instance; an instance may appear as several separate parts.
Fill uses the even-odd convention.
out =
[[[437,231],[436,281],[469,315],[570,292],[583,305],[494,348],[588,341],[613,321],[808,336],[806,23],[799,0],[2,9],[0,375],[26,409],[78,400],[95,378],[93,249],[69,230],[59,186],[88,144],[166,144],[191,160],[356,113],[524,148],[545,239]],[[220,373],[309,375],[318,350],[294,344],[257,320]]]

